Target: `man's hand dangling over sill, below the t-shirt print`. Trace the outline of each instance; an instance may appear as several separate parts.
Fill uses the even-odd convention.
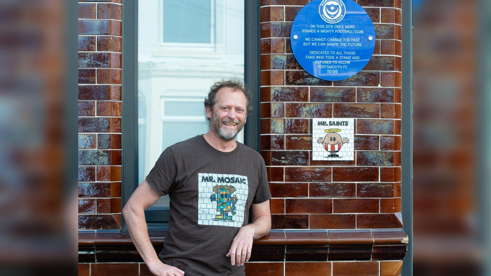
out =
[[[249,260],[254,231],[254,228],[246,225],[243,226],[235,236],[232,246],[226,254],[227,257],[230,257],[230,263],[232,265],[237,264],[237,266],[243,266],[244,262]]]

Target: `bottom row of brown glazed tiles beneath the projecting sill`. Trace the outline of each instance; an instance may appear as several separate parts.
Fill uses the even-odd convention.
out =
[[[402,261],[247,262],[246,276],[400,276]],[[79,263],[79,276],[152,276],[145,263]]]

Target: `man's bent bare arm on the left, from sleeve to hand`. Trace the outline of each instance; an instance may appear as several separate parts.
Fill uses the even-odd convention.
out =
[[[144,180],[128,199],[123,208],[123,216],[128,225],[131,239],[150,271],[158,276],[183,276],[184,272],[182,270],[160,261],[148,236],[145,210],[159,198],[160,194]]]

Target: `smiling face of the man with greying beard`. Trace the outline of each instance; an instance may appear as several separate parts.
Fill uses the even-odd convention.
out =
[[[219,138],[230,141],[235,139],[246,123],[247,99],[241,90],[222,87],[215,97],[213,110],[206,108],[206,115],[210,118],[210,129]]]

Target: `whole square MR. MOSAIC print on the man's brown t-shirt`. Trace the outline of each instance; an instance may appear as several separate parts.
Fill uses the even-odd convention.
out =
[[[198,189],[198,224],[242,227],[247,176],[200,172]]]

